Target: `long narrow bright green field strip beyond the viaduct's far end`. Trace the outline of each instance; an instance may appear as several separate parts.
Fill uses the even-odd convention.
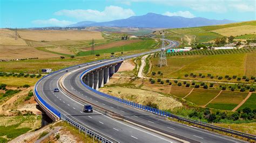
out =
[[[154,49],[157,46],[158,46],[158,42],[156,42],[155,40],[146,39],[140,42],[135,42],[135,43],[124,45],[124,46],[96,50],[95,54],[104,54],[104,53],[110,54],[110,53],[118,53],[118,52],[120,53],[123,51],[127,52],[127,51],[141,50],[141,49]],[[91,54],[91,51],[86,51],[86,52],[79,52],[77,55],[85,56],[90,54]]]

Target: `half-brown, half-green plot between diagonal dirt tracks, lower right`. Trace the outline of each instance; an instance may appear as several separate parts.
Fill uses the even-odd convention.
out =
[[[221,110],[232,110],[247,95],[247,92],[223,91],[217,98],[208,104],[207,107]]]

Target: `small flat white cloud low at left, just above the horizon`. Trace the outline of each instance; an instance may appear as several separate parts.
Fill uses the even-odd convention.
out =
[[[46,20],[34,20],[32,21],[33,24],[41,25],[41,26],[66,26],[70,24],[74,24],[73,22],[67,20],[58,20],[56,18],[50,18]]]

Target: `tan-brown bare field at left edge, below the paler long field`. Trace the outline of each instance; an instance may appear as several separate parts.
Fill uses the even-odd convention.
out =
[[[29,46],[6,46],[0,45],[0,59],[23,59],[23,58],[51,58],[59,57],[57,54],[39,51]]]

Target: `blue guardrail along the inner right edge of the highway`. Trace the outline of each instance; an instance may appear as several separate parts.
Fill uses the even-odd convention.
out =
[[[133,108],[137,108],[137,109],[140,109],[140,110],[144,110],[144,111],[147,111],[147,112],[154,113],[154,114],[159,115],[159,116],[164,116],[164,117],[167,117],[167,118],[176,118],[176,119],[181,120],[181,121],[186,121],[187,123],[192,123],[192,124],[196,124],[196,125],[200,125],[200,126],[212,128],[212,129],[214,129],[214,130],[223,131],[223,132],[226,132],[226,133],[238,135],[238,136],[240,136],[240,137],[244,137],[244,138],[256,140],[256,135],[247,134],[247,133],[243,133],[243,132],[239,132],[239,131],[235,131],[235,130],[230,130],[230,129],[228,129],[228,128],[224,128],[224,127],[220,127],[220,126],[215,126],[215,125],[207,124],[207,123],[204,123],[204,122],[202,122],[202,121],[197,121],[197,120],[187,119],[187,118],[184,118],[184,117],[179,117],[179,116],[177,116],[177,115],[173,115],[173,114],[170,113],[170,112],[166,112],[166,111],[159,110],[159,109],[156,109],[156,108],[151,108],[150,106],[145,106],[145,105],[138,104],[138,103],[134,103],[134,102],[131,102],[131,101],[127,101],[127,100],[125,100],[125,99],[121,99],[121,98],[118,98],[118,97],[115,97],[115,96],[112,96],[112,95],[105,94],[105,93],[103,93],[103,92],[97,91],[97,90],[95,90],[95,89],[89,87],[88,85],[86,85],[86,84],[83,82],[82,77],[83,77],[85,74],[89,73],[89,71],[91,71],[91,70],[93,70],[93,69],[96,69],[96,68],[98,68],[98,67],[102,67],[102,66],[106,66],[106,65],[100,65],[100,66],[96,66],[96,67],[92,67],[92,68],[86,69],[86,70],[80,75],[80,82],[81,82],[87,89],[89,89],[89,90],[95,92],[95,93],[98,94],[98,95],[101,95],[101,96],[103,96],[103,97],[112,99],[112,100],[114,100],[114,101],[117,101],[117,102],[122,103],[122,104],[125,104],[125,105],[132,106]]]

